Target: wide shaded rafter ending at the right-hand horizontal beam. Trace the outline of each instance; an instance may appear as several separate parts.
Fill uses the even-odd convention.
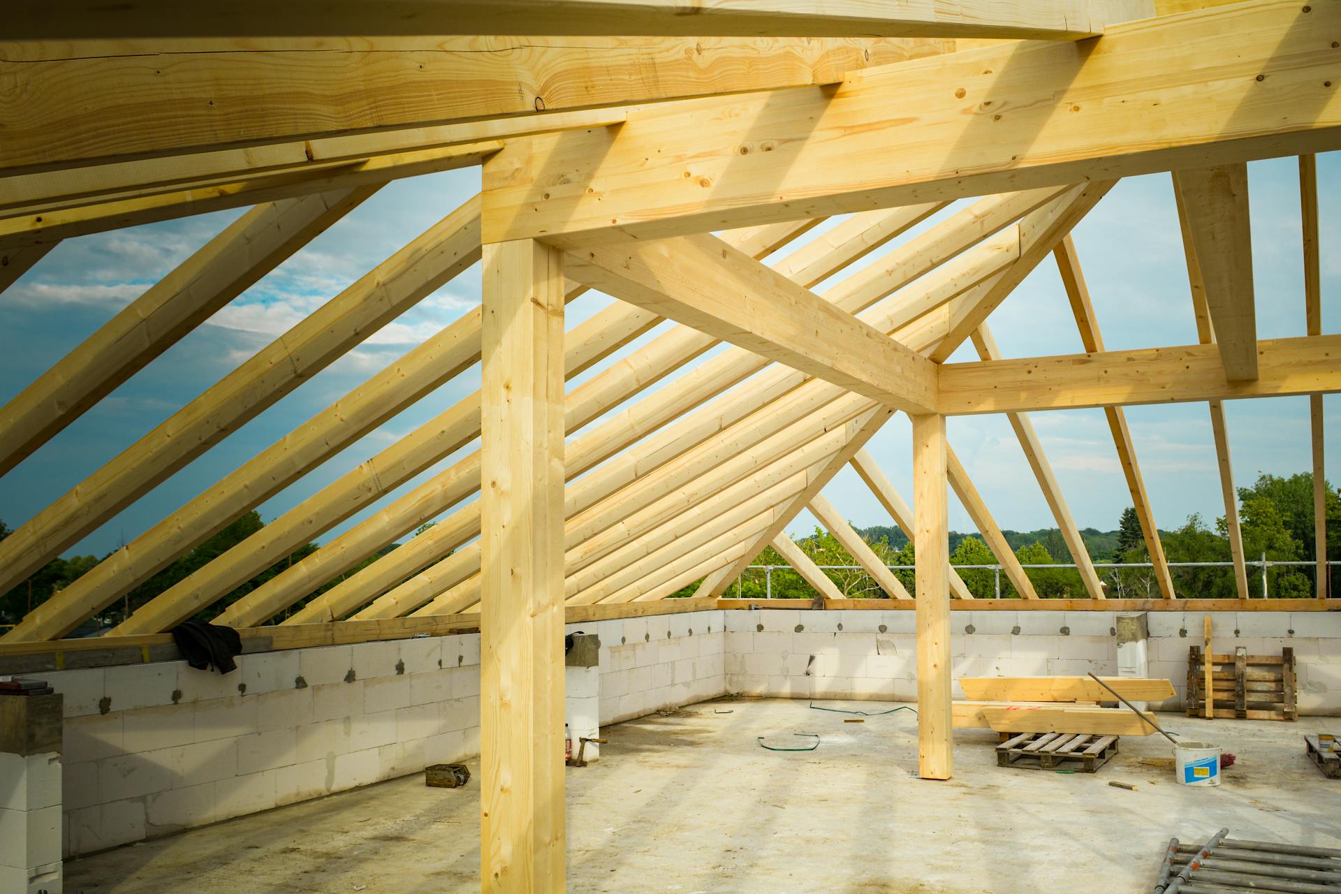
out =
[[[1173,172],[1189,252],[1202,269],[1215,340],[1231,382],[1257,378],[1257,312],[1252,298],[1252,233],[1248,168],[1219,165]],[[1089,348],[1086,348],[1089,350]]]

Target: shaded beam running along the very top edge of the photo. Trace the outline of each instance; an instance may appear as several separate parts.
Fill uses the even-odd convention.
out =
[[[109,9],[94,0],[21,0],[11,40],[72,38],[270,38],[311,35],[491,35],[523,23],[528,35],[675,35],[774,38],[1033,38],[1075,40],[1110,21],[1155,15],[1151,0],[227,0],[186,7],[135,0]]]

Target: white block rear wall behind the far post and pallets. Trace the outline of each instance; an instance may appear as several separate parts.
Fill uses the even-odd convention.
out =
[[[913,611],[725,611],[727,689],[794,698],[916,701]],[[1148,613],[1148,667],[1172,681],[1181,710],[1188,646],[1200,645],[1203,614]],[[1215,651],[1294,649],[1301,714],[1341,714],[1341,614],[1212,613]],[[956,677],[1117,676],[1116,618],[1100,611],[955,611]],[[959,684],[955,697],[963,698]]]

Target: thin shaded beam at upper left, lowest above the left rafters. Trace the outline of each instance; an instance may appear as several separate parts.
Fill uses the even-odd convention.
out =
[[[188,214],[280,201],[312,193],[381,186],[389,180],[479,165],[503,143],[485,141],[445,149],[386,155],[357,165],[338,165],[294,174],[207,184],[193,189],[113,198],[68,208],[20,208],[0,213],[0,248],[55,243],[109,229],[139,227]]]

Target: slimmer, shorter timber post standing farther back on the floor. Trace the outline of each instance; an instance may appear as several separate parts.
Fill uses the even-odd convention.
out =
[[[944,416],[913,416],[913,555],[917,596],[917,772],[955,771],[949,659],[949,516]]]

